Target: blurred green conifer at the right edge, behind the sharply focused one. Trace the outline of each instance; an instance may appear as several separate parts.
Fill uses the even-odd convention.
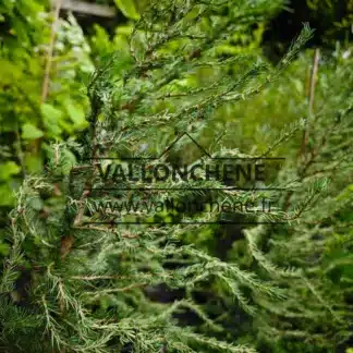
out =
[[[313,194],[309,211],[295,228],[252,233],[269,246],[268,258],[297,269],[290,281],[277,282],[288,288],[288,300],[264,303],[267,314],[259,327],[264,337],[271,334],[278,352],[336,352],[352,340],[353,61],[346,52],[337,48],[322,57],[306,148],[279,175],[283,182],[300,182],[283,196],[283,209],[305,202],[304,191],[317,178],[327,179],[326,191]]]

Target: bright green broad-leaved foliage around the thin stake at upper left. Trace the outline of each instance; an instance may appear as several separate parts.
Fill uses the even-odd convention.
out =
[[[75,19],[60,20],[49,95],[41,105],[51,14],[39,1],[3,0],[0,15],[5,29],[0,37],[0,155],[5,163],[19,166],[0,179],[0,206],[11,206],[13,190],[23,175],[42,169],[45,156],[40,145],[86,126],[87,100],[80,93],[80,82],[93,71],[93,65],[89,47]]]

